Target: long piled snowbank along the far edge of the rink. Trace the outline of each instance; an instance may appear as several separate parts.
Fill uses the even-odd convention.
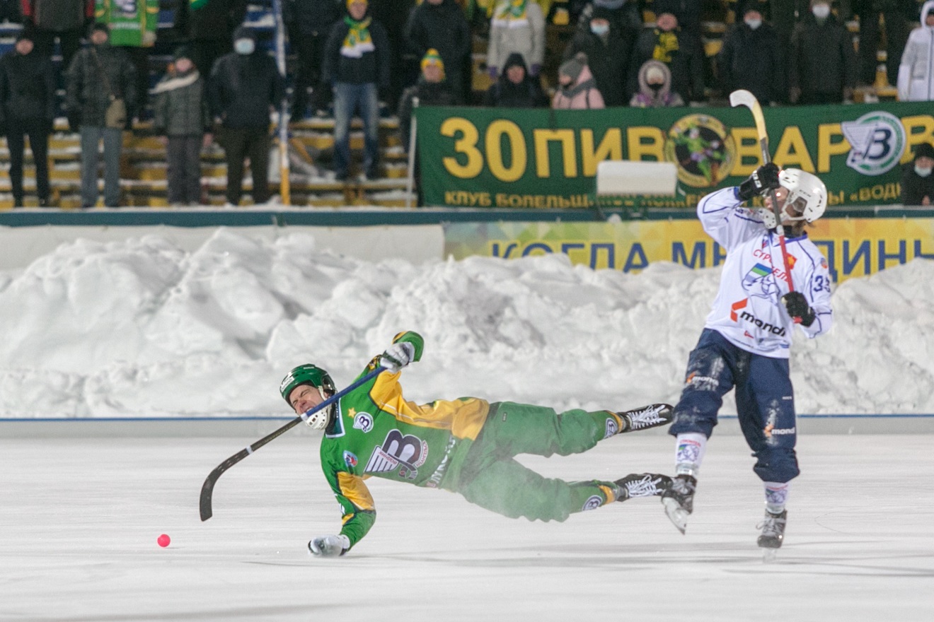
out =
[[[718,278],[566,256],[368,262],[307,234],[223,228],[193,252],[158,235],[66,242],[0,272],[0,417],[285,415],[276,388],[292,366],[345,385],[406,329],[426,339],[404,377],[417,402],[672,402]],[[799,412],[934,412],[934,261],[842,283],[833,300],[831,333],[793,349]]]

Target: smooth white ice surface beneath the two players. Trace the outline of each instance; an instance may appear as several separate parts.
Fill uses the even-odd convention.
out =
[[[201,483],[233,439],[0,440],[0,620],[931,619],[929,435],[802,435],[770,564],[740,435],[709,444],[686,535],[657,499],[531,523],[370,479],[374,528],[336,560],[305,548],[340,524],[317,446],[287,436],[234,466],[202,523]],[[668,436],[633,434],[523,462],[620,477],[670,470],[672,452]]]

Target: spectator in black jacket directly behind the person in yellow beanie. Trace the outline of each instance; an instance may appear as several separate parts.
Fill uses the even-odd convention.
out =
[[[448,88],[461,101],[466,99],[464,76],[473,40],[463,9],[454,0],[425,0],[412,9],[405,42],[417,59],[436,49],[445,63]]]

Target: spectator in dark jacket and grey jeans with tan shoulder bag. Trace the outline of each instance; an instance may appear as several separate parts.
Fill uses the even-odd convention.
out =
[[[104,205],[117,207],[123,131],[133,127],[136,109],[136,70],[124,49],[110,46],[106,24],[95,23],[90,38],[68,67],[65,113],[72,131],[80,127],[81,206],[97,203],[97,145],[103,140]]]

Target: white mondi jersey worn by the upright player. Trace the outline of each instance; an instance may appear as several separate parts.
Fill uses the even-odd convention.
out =
[[[727,251],[705,327],[747,352],[788,358],[795,323],[780,299],[788,293],[782,247],[759,215],[742,205],[733,187],[709,194],[698,204],[704,230]],[[800,328],[808,337],[817,337],[833,321],[827,259],[806,234],[785,238],[785,248],[795,291],[807,298],[815,314],[814,324]]]

